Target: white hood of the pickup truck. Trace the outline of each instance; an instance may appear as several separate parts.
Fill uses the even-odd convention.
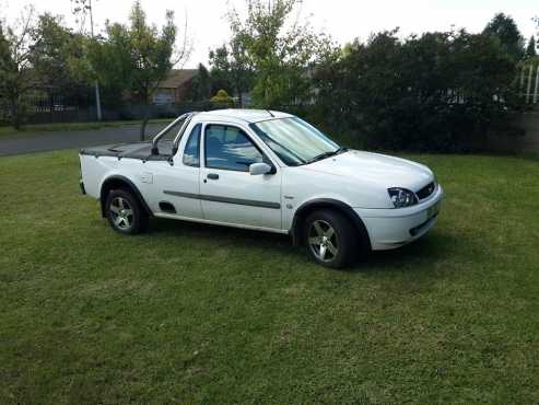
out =
[[[326,173],[353,181],[417,192],[433,181],[432,171],[423,164],[379,153],[348,150],[344,153],[303,166],[312,172]]]

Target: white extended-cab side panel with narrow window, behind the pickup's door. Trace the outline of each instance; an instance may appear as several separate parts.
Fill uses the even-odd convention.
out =
[[[156,212],[179,218],[202,219],[200,193],[201,124],[187,128],[173,164],[156,173]]]

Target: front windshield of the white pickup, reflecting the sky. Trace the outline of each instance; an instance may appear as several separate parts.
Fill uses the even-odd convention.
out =
[[[312,163],[344,150],[297,117],[250,124],[255,132],[290,166]]]

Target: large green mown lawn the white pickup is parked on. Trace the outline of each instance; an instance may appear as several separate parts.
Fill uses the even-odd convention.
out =
[[[349,271],[283,236],[122,236],[77,152],[0,159],[0,403],[539,402],[539,162],[413,155],[437,227]]]

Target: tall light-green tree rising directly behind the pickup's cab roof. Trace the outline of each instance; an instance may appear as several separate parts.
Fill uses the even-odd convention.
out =
[[[300,24],[300,4],[301,0],[247,0],[245,19],[235,9],[229,12],[232,51],[255,69],[253,100],[260,107],[301,107],[312,100],[312,70],[331,42],[315,33],[308,21]]]

